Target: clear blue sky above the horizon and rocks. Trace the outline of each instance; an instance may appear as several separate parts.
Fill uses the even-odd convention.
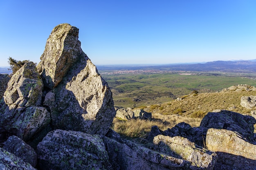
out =
[[[96,66],[256,59],[256,0],[0,0],[0,66],[40,62],[61,23]]]

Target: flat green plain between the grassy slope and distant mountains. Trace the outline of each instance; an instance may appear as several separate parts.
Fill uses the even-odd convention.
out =
[[[238,84],[256,86],[254,75],[239,73],[99,73],[108,82],[115,107],[119,108],[160,104],[194,90],[199,93],[210,93]]]

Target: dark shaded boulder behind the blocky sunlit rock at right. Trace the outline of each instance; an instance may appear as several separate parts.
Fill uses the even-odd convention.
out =
[[[200,127],[236,131],[247,140],[254,141],[255,123],[256,119],[252,116],[221,110],[219,113],[209,112],[202,119]]]

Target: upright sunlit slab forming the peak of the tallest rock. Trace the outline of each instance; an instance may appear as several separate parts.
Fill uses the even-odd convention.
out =
[[[79,29],[70,24],[59,24],[49,35],[37,69],[50,89],[62,81],[79,57],[84,56],[78,33]]]

